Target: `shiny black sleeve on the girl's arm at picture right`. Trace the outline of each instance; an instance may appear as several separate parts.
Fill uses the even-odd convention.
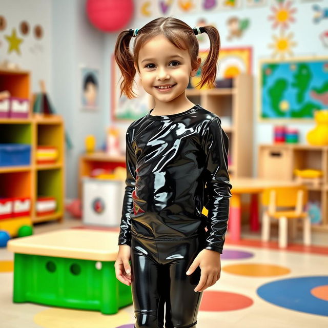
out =
[[[222,130],[221,120],[215,116],[205,128],[202,137],[206,154],[205,177],[208,209],[204,249],[222,254],[224,235],[228,228],[229,198],[232,185],[228,173],[229,138]]]

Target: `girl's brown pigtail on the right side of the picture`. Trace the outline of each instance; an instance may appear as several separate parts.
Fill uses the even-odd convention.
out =
[[[213,26],[203,26],[204,31],[208,34],[210,39],[210,51],[204,61],[204,64],[201,67],[201,76],[200,82],[196,85],[203,87],[205,84],[208,84],[210,88],[213,86],[216,87],[215,79],[217,73],[217,61],[219,58],[220,50],[220,34],[218,30]]]

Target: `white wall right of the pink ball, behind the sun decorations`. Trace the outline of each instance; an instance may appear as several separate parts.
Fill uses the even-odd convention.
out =
[[[141,14],[141,8],[146,3],[149,3],[147,10],[150,15],[145,17]],[[269,48],[268,45],[273,43],[273,35],[280,35],[278,28],[273,28],[273,21],[268,19],[269,16],[273,15],[271,10],[272,5],[277,7],[276,2],[273,0],[264,1],[262,7],[247,8],[245,7],[245,1],[241,1],[241,8],[233,10],[227,9],[216,9],[213,11],[205,11],[201,9],[201,3],[204,2],[193,2],[196,3],[196,7],[192,10],[192,13],[185,13],[178,9],[176,3],[173,2],[173,9],[168,11],[167,14],[162,15],[159,12],[159,1],[155,0],[152,2],[145,0],[135,1],[135,17],[127,28],[141,28],[152,19],[159,16],[174,16],[176,18],[184,20],[189,26],[197,26],[197,20],[201,17],[206,19],[207,23],[214,23],[219,30],[221,37],[221,48],[233,48],[233,47],[252,47],[253,48],[253,60],[252,67],[254,75],[254,111],[253,111],[253,139],[254,139],[254,151],[253,151],[253,174],[257,172],[257,147],[259,144],[272,143],[273,142],[273,127],[274,125],[267,122],[259,122],[257,120],[258,109],[256,107],[257,99],[257,83],[258,83],[258,61],[261,58],[271,58],[273,49]],[[214,2],[208,2],[214,3]],[[328,55],[328,48],[324,47],[319,35],[327,30],[328,19],[321,20],[318,24],[313,23],[314,10],[312,9],[313,4],[318,4],[321,8],[328,7],[328,1],[301,1],[295,0],[292,3],[292,7],[296,9],[296,12],[292,15],[295,18],[294,23],[289,24],[289,28],[285,31],[285,34],[293,33],[293,41],[297,43],[295,47],[292,47],[293,56],[323,56]],[[250,25],[247,30],[244,31],[240,38],[233,38],[228,40],[228,26],[227,20],[237,16],[240,19],[249,19]],[[113,51],[113,44],[118,33],[106,35],[106,49],[107,51]],[[132,44],[132,43],[131,43]],[[108,99],[106,99],[108,101]],[[109,104],[107,104],[109,106]],[[242,110],[242,109],[241,109]],[[106,117],[106,121],[109,116]],[[313,128],[313,124],[301,123],[301,124],[288,124],[290,128],[298,128],[300,133],[300,142],[306,142],[306,133]]]

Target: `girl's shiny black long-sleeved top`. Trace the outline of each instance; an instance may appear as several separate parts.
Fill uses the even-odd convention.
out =
[[[118,245],[131,245],[131,235],[184,239],[207,227],[203,248],[222,253],[232,185],[221,120],[199,104],[172,115],[151,111],[126,133]],[[201,213],[203,206],[208,216]]]

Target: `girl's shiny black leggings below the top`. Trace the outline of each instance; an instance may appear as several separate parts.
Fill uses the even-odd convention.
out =
[[[135,328],[196,327],[202,292],[194,289],[200,268],[186,275],[201,251],[201,237],[131,238],[131,289]]]

